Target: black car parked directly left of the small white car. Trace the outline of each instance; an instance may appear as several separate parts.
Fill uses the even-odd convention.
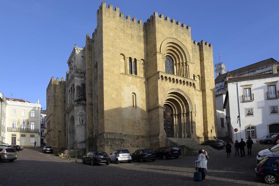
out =
[[[82,157],[82,163],[91,163],[91,165],[105,163],[109,165],[110,158],[106,152],[90,151]]]

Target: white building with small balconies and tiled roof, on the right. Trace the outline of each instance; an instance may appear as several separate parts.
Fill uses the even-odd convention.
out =
[[[231,77],[224,109],[231,124],[232,140],[256,139],[279,132],[279,73],[276,65],[272,73]],[[238,132],[233,132],[237,128]],[[231,135],[230,135],[231,136]]]

